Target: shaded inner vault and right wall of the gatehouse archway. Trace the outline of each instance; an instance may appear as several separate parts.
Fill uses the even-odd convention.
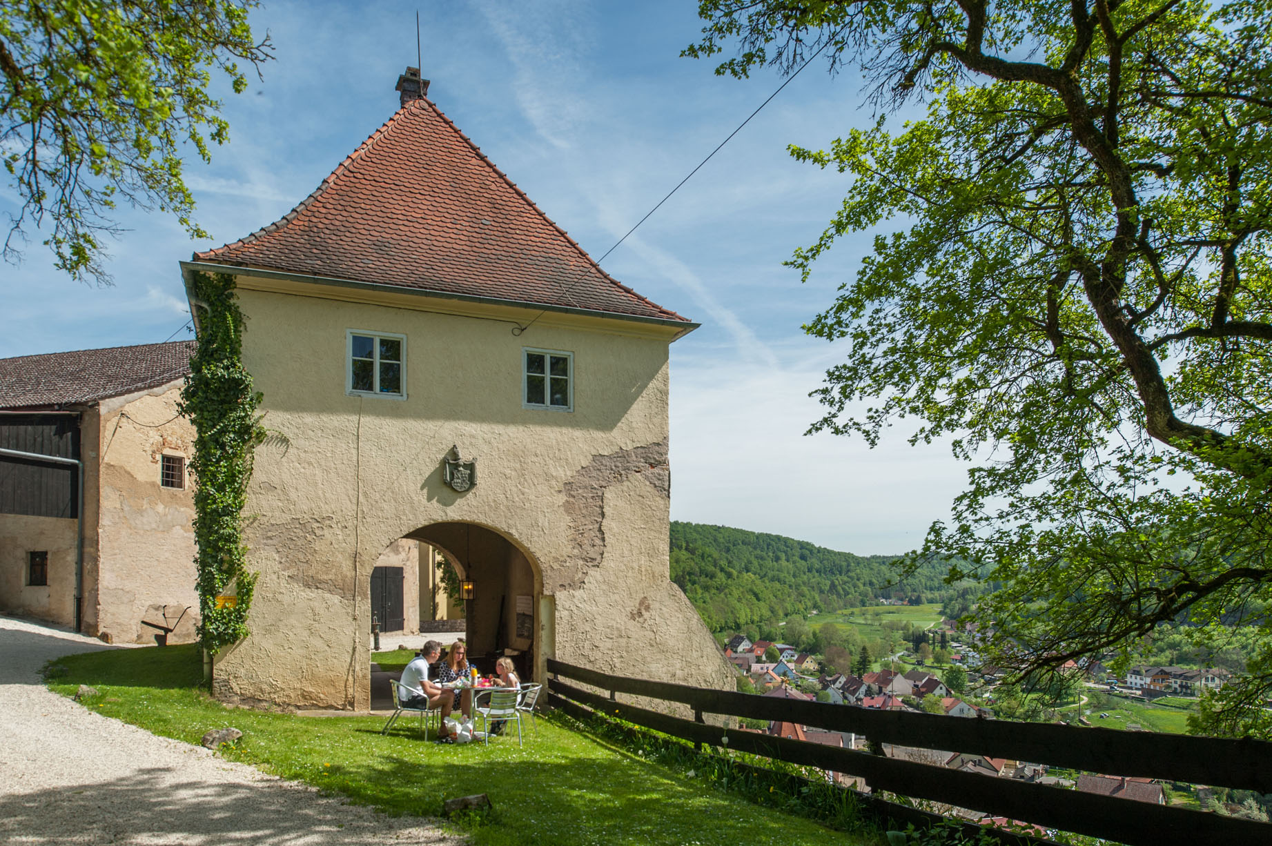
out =
[[[473,583],[464,600],[468,656],[482,673],[509,656],[524,681],[542,681],[552,645],[542,642],[543,575],[539,564],[508,534],[480,523],[444,522],[403,536],[446,556],[459,578]]]

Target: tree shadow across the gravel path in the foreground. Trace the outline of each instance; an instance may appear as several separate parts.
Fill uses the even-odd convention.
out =
[[[86,776],[89,773],[85,773]],[[93,782],[0,795],[0,841],[52,843],[383,843],[385,823],[396,833],[425,819],[396,819],[350,809],[338,800],[280,782],[182,781],[174,768],[137,770],[127,781]],[[11,838],[11,840],[10,840]],[[403,842],[403,841],[399,841]],[[445,843],[441,831],[407,843]]]

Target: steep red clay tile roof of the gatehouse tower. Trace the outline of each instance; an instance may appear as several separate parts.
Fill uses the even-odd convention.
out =
[[[427,99],[281,220],[195,260],[687,322],[603,271]]]

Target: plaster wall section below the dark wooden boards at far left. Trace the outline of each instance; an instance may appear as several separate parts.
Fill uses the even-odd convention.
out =
[[[0,514],[0,609],[74,623],[75,528],[75,519]],[[27,584],[32,551],[48,552],[47,585]]]

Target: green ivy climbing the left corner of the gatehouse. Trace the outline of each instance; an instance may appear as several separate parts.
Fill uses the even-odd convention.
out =
[[[257,574],[247,571],[243,506],[252,454],[265,439],[257,407],[261,394],[243,368],[243,312],[229,274],[195,274],[198,346],[178,411],[195,425],[195,565],[198,570],[198,627],[202,645],[216,654],[248,636],[247,617]],[[218,608],[216,598],[235,595]]]

